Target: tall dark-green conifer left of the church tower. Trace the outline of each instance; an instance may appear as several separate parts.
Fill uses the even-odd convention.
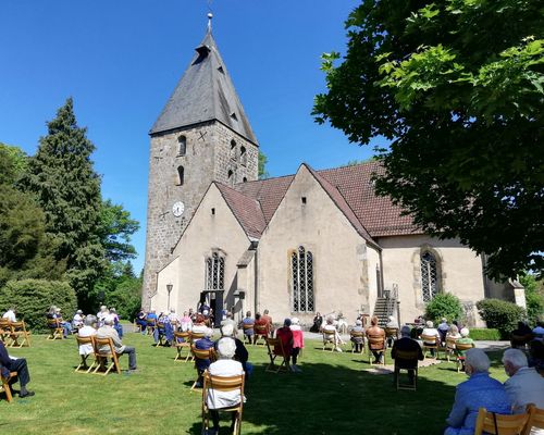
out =
[[[79,303],[104,269],[100,238],[100,177],[90,156],[95,146],[77,126],[72,99],[48,123],[29,159],[22,186],[37,197],[46,216],[46,234],[57,261],[65,261],[67,277]]]

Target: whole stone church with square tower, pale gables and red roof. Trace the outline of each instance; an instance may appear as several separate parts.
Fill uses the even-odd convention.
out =
[[[524,304],[485,276],[485,259],[425,235],[374,194],[376,162],[258,179],[259,145],[211,29],[151,128],[144,306],[237,319],[316,312],[412,322],[440,291]]]

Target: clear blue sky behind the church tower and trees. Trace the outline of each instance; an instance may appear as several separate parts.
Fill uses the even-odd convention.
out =
[[[271,176],[301,162],[334,167],[371,156],[316,124],[322,52],[345,50],[354,0],[217,0],[213,35]],[[97,147],[102,195],[141,224],[144,263],[148,132],[203,38],[205,0],[4,0],[0,2],[0,141],[33,154],[69,96]]]

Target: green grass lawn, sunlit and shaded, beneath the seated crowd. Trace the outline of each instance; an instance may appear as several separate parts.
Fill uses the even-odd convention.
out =
[[[123,341],[136,347],[138,373],[74,373],[79,356],[73,336],[33,336],[30,348],[9,349],[27,359],[36,396],[11,403],[2,396],[0,434],[200,434],[201,394],[189,390],[193,363],[174,362],[175,349],[154,348],[149,336],[126,334]],[[317,340],[306,340],[300,374],[264,372],[262,346],[249,347],[249,355],[255,372],[246,386],[243,434],[442,434],[455,386],[466,380],[444,361],[420,369],[418,391],[396,391],[393,375],[364,371],[368,353],[323,352]],[[502,352],[491,357],[492,375],[504,382]],[[126,356],[121,365],[127,369]],[[225,415],[221,434],[228,423]]]

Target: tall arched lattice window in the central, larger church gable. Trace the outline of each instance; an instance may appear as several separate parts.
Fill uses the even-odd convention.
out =
[[[292,311],[313,312],[313,256],[304,246],[290,252]]]

